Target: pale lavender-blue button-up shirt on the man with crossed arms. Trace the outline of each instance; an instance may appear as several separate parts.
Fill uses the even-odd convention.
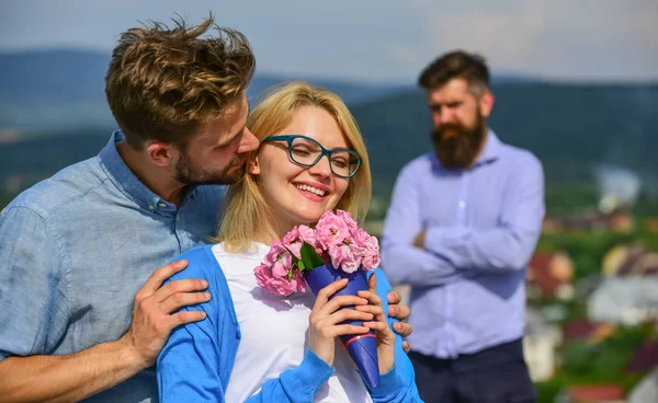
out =
[[[469,169],[446,170],[430,152],[401,170],[382,267],[392,283],[411,285],[413,350],[455,358],[523,336],[525,269],[543,217],[540,161],[492,130]]]

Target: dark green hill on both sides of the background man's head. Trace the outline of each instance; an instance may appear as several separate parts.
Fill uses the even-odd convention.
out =
[[[658,84],[495,84],[490,126],[506,142],[534,152],[549,183],[592,181],[600,164],[656,177]],[[352,108],[367,140],[373,172],[397,175],[431,150],[424,95],[409,91]]]

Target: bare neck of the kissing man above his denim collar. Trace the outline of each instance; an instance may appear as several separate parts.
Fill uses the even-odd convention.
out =
[[[125,140],[116,145],[116,150],[146,187],[162,199],[173,203],[177,207],[180,206],[186,188],[173,177],[171,169],[149,163],[144,152],[133,150]]]

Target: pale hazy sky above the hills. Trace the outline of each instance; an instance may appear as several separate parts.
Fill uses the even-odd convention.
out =
[[[258,71],[413,84],[444,51],[494,74],[658,81],[658,0],[0,0],[0,51],[110,53],[118,34],[175,13],[245,33]]]

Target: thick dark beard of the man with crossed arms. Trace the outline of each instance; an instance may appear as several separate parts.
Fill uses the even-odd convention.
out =
[[[451,131],[446,135],[446,131]],[[485,141],[485,118],[478,112],[473,128],[458,123],[445,124],[432,130],[434,150],[441,165],[446,169],[466,169],[473,165]]]

